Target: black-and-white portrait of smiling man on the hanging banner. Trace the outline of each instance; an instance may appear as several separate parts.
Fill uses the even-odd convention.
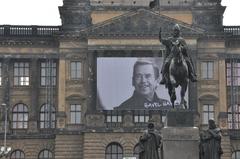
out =
[[[136,61],[133,67],[132,85],[135,88],[133,95],[115,109],[159,109],[170,105],[155,92],[159,85],[159,69],[152,62]]]

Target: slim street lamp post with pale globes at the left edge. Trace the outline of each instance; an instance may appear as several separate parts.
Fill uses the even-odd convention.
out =
[[[0,149],[0,158],[4,157],[7,158],[7,155],[12,150],[11,147],[7,147],[7,105],[2,103],[2,107],[5,109],[5,122],[4,122],[4,145],[1,146]]]

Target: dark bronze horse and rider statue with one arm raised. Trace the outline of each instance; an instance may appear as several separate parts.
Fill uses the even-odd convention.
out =
[[[191,56],[188,54],[187,44],[180,36],[180,27],[176,24],[173,28],[173,34],[167,39],[161,36],[159,31],[159,41],[166,46],[166,56],[162,66],[162,80],[160,84],[165,84],[174,108],[176,100],[175,88],[181,86],[181,105],[187,108],[187,102],[184,99],[189,79],[196,82],[196,73],[193,67]]]

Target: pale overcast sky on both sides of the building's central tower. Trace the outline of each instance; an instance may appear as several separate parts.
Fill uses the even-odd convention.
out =
[[[63,0],[0,0],[0,25],[61,25],[58,6]],[[240,26],[240,0],[222,0],[227,6],[224,25]]]

